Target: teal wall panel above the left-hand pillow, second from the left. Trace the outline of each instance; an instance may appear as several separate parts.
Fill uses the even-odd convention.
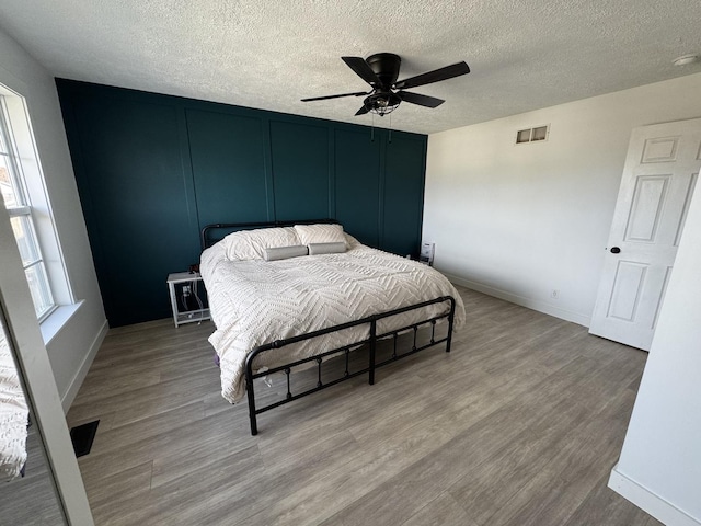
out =
[[[262,119],[189,108],[186,115],[200,228],[267,220]]]

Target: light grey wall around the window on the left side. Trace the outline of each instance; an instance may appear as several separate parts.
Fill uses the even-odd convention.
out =
[[[67,410],[104,338],[107,322],[54,78],[1,31],[0,83],[26,100],[68,281],[74,298],[83,300],[62,330],[47,344],[56,385]]]

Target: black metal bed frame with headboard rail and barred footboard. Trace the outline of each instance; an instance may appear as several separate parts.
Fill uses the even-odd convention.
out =
[[[295,222],[290,222],[290,221],[269,221],[269,222],[237,222],[237,224],[215,224],[215,225],[207,225],[206,227],[204,227],[202,229],[202,233],[200,233],[200,242],[202,242],[202,248],[203,250],[206,249],[207,247],[209,247],[211,243],[209,243],[209,238],[208,238],[208,232],[209,230],[212,229],[251,229],[251,228],[272,228],[272,227],[289,227],[289,226],[294,226],[294,225],[314,225],[314,224],[337,224],[337,221],[335,219],[319,219],[319,220],[304,220],[304,221],[295,221]],[[388,331],[384,332],[382,334],[378,334],[377,333],[377,322],[379,320],[383,320],[384,318],[390,318],[392,316],[397,316],[397,315],[401,315],[404,312],[409,312],[412,310],[416,310],[416,309],[422,309],[424,307],[428,307],[430,305],[435,305],[435,304],[441,304],[441,302],[449,302],[450,304],[450,309],[448,310],[448,312],[444,312],[443,315],[438,315],[435,316],[433,318],[426,319],[426,320],[422,320],[415,323],[411,323],[409,325],[405,327],[401,327],[399,329],[394,329],[392,331]],[[314,392],[321,391],[322,389],[326,389],[329,387],[335,386],[336,384],[341,384],[342,381],[345,380],[349,380],[352,378],[355,378],[356,376],[363,375],[365,373],[368,374],[368,382],[370,385],[375,384],[375,373],[379,367],[382,367],[384,365],[391,364],[398,359],[401,358],[405,358],[407,356],[411,356],[415,353],[418,353],[420,351],[424,351],[426,348],[433,347],[435,345],[439,345],[441,343],[446,343],[446,353],[450,352],[450,344],[452,341],[452,327],[453,327],[453,322],[455,322],[455,312],[456,312],[456,300],[452,296],[441,296],[435,299],[430,299],[427,301],[422,301],[420,304],[416,305],[411,305],[407,307],[402,307],[399,309],[393,309],[393,310],[389,310],[386,312],[380,312],[377,315],[372,315],[372,316],[368,316],[365,318],[361,318],[359,320],[354,320],[354,321],[348,321],[346,323],[341,323],[337,325],[333,325],[333,327],[329,327],[325,329],[320,329],[317,331],[312,331],[306,334],[299,334],[297,336],[291,336],[291,338],[287,338],[284,340],[276,340],[274,342],[271,343],[266,343],[264,345],[260,345],[257,347],[255,347],[251,353],[249,353],[249,355],[246,356],[245,359],[245,387],[246,387],[246,395],[248,395],[248,399],[249,399],[249,419],[251,422],[251,434],[252,435],[257,435],[258,433],[258,428],[257,428],[257,415],[261,413],[264,413],[266,411],[269,411],[271,409],[275,409],[278,408],[280,405],[284,405],[286,403],[292,402],[295,400],[298,400],[302,397],[306,397],[308,395],[312,395]],[[448,333],[446,336],[440,338],[438,340],[436,340],[436,323],[439,320],[443,319],[448,319]],[[266,369],[264,371],[260,371],[260,373],[254,373],[254,365],[253,362],[255,361],[255,358],[257,356],[260,356],[262,353],[265,353],[267,351],[271,350],[276,350],[276,348],[280,348],[284,347],[286,345],[290,345],[294,343],[299,343],[302,342],[304,340],[311,340],[313,338],[319,338],[319,336],[323,336],[325,334],[330,334],[332,332],[338,332],[338,331],[343,331],[345,329],[349,329],[353,327],[357,327],[357,325],[363,325],[363,324],[369,324],[369,336],[367,339],[360,340],[360,341],[356,341],[356,342],[352,342],[349,344],[346,344],[344,346],[337,347],[337,348],[333,348],[330,351],[325,351],[323,353],[319,353],[315,354],[313,356],[309,356],[307,358],[301,358],[301,359],[297,359],[295,362],[290,362],[288,364],[283,364],[280,366],[277,367],[273,367],[269,369]],[[418,333],[418,329],[423,325],[428,325],[430,324],[430,341],[427,344],[424,345],[418,345],[417,346],[417,333]],[[398,338],[401,333],[407,332],[407,331],[413,331],[413,345],[411,347],[410,351],[403,352],[403,353],[398,353],[397,351],[397,341]],[[377,342],[379,340],[384,340],[384,339],[389,339],[391,338],[393,340],[393,351],[392,354],[389,358],[382,361],[382,362],[377,362],[377,356],[376,356],[376,350],[377,350]],[[348,370],[348,364],[349,364],[349,353],[350,351],[355,351],[360,348],[364,345],[368,345],[369,351],[368,351],[368,364],[366,367],[359,369],[359,370],[354,370],[354,371],[349,371]],[[343,375],[334,378],[330,381],[326,382],[322,382],[322,375],[321,375],[321,366],[324,363],[324,358],[325,357],[335,357],[335,356],[343,356],[345,355],[345,370],[343,371]],[[301,392],[298,393],[292,393],[291,392],[291,386],[290,386],[290,374],[294,367],[304,367],[307,364],[315,362],[317,363],[317,370],[318,370],[318,376],[317,376],[317,386],[310,389],[306,389]],[[281,400],[277,400],[273,403],[269,403],[267,405],[264,405],[262,408],[256,408],[256,403],[255,403],[255,388],[253,385],[253,380],[257,379],[257,378],[263,378],[265,376],[275,374],[275,373],[285,373],[286,375],[286,379],[287,379],[287,393],[285,396],[284,399]]]

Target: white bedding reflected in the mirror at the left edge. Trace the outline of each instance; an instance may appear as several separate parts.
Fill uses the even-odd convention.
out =
[[[26,462],[28,415],[24,391],[0,325],[0,480],[18,477]]]

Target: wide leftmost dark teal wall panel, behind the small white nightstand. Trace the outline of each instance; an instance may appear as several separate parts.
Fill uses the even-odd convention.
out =
[[[91,243],[95,235],[101,240],[95,267],[107,318],[127,324],[166,317],[162,268],[186,267],[192,247],[177,113],[94,98],[73,112],[85,171],[79,190],[92,203]]]

